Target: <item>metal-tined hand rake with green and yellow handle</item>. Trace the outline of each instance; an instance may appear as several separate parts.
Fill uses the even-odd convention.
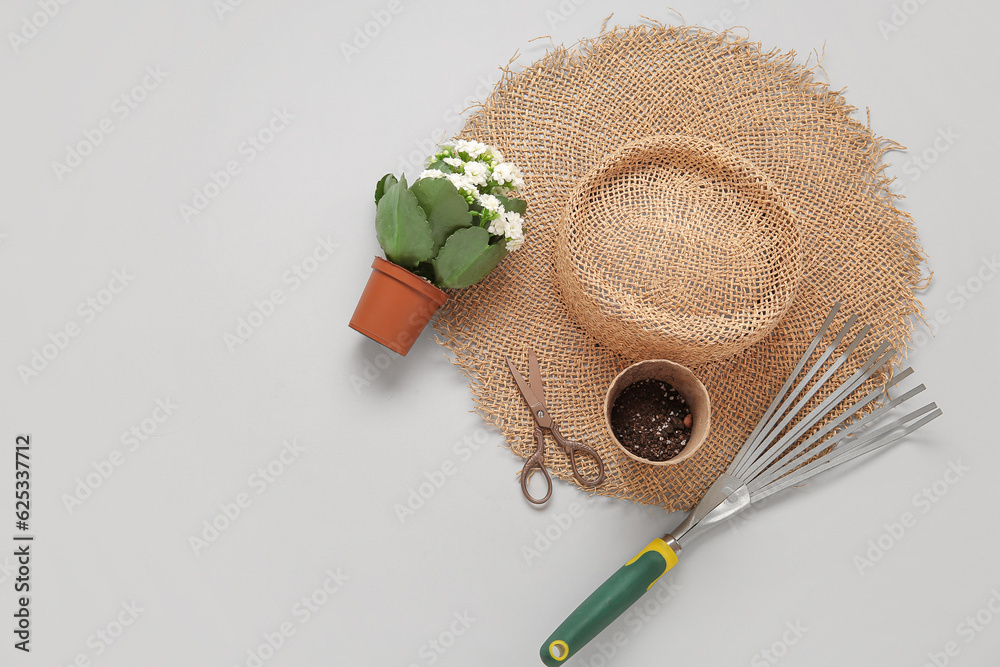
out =
[[[686,548],[709,528],[778,491],[890,445],[941,415],[937,405],[930,403],[891,421],[885,419],[891,411],[922,392],[923,385],[896,398],[885,396],[881,405],[873,404],[886,390],[912,374],[910,368],[895,373],[884,387],[860,399],[853,396],[876,373],[885,372],[891,364],[896,351],[889,343],[879,345],[850,377],[837,384],[834,378],[838,371],[844,368],[870,330],[867,325],[862,327],[844,351],[836,355],[857,323],[856,316],[847,320],[825,351],[805,370],[839,308],[839,303],[834,305],[726,472],[715,480],[677,528],[650,542],[576,608],[542,645],[542,662],[551,667],[575,655],[677,564],[682,547]],[[845,372],[846,369],[841,375]],[[815,407],[808,408],[820,391],[830,393]],[[824,420],[842,405],[847,407],[824,424]],[[867,414],[863,414],[866,407]],[[886,421],[889,423],[883,423]]]

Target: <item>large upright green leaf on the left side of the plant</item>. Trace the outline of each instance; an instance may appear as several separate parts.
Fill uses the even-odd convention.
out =
[[[406,176],[386,188],[375,211],[375,234],[386,259],[413,269],[434,256],[427,215],[406,188]]]

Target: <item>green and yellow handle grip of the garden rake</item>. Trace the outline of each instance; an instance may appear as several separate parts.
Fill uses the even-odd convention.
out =
[[[576,655],[676,564],[677,554],[666,542],[659,538],[650,542],[591,593],[545,640],[539,651],[542,662],[557,667]]]

